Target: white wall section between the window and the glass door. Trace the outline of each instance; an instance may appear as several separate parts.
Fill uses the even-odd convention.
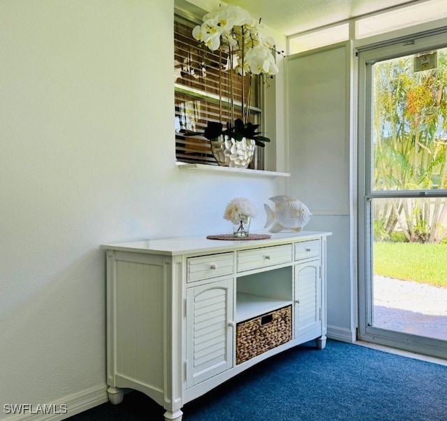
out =
[[[314,214],[306,229],[328,238],[328,336],[353,341],[351,250],[351,48],[334,45],[287,62],[288,191]]]

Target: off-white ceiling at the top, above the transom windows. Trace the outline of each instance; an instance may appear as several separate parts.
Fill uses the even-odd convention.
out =
[[[423,1],[426,0],[225,0],[248,10],[253,17],[261,17],[265,25],[286,36]]]

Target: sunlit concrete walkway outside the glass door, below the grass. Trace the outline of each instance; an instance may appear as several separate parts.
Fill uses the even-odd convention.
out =
[[[374,276],[374,326],[447,341],[447,288]]]

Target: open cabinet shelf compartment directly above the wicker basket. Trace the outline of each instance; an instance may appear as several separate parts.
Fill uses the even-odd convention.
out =
[[[236,280],[236,322],[292,304],[291,266],[240,276]]]

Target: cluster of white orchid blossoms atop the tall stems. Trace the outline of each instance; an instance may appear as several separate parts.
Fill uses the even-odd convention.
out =
[[[261,20],[256,22],[247,10],[228,5],[203,16],[203,24],[193,29],[193,37],[212,51],[221,44],[228,45],[230,57],[237,62],[234,69],[242,76],[275,75],[279,69],[272,55],[274,40],[263,38],[261,29]],[[230,60],[232,68],[233,60]]]

